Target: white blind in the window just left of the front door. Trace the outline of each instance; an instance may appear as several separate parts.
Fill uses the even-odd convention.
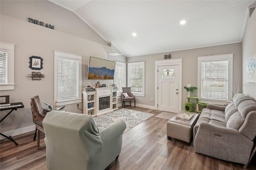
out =
[[[142,93],[143,90],[143,68],[131,67],[131,91],[134,93]]]

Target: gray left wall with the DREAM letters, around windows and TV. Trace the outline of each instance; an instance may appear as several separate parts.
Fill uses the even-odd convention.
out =
[[[87,80],[90,56],[108,59],[108,52],[116,51],[108,46],[94,30],[88,27],[74,13],[56,6],[49,1],[0,1],[0,41],[14,43],[15,70],[14,90],[0,91],[1,95],[10,95],[10,103],[22,102],[23,109],[11,113],[2,123],[1,132],[19,129],[27,132],[34,126],[30,109],[30,98],[39,95],[42,101],[54,101],[54,50],[82,55],[82,89],[86,85],[94,85],[94,80]],[[28,22],[28,17],[54,25],[54,30]],[[28,77],[29,57],[43,58],[45,77],[40,81],[32,81]],[[111,59],[111,58],[110,58]],[[116,61],[125,62],[124,56]],[[112,85],[112,80],[101,81]],[[42,103],[43,105],[43,103]],[[45,105],[43,105],[45,107]],[[80,103],[82,109],[82,103]],[[76,104],[66,105],[66,111],[81,113]],[[1,119],[8,111],[1,111]],[[11,134],[13,135],[13,134]],[[15,135],[15,133],[14,133]]]

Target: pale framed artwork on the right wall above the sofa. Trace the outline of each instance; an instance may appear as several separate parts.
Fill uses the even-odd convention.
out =
[[[256,83],[256,54],[246,59],[246,81]]]

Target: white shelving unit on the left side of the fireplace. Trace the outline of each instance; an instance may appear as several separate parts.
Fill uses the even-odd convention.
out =
[[[96,99],[96,91],[82,91],[83,93],[83,110],[84,114],[86,115],[92,115],[92,117],[95,117],[95,99]]]

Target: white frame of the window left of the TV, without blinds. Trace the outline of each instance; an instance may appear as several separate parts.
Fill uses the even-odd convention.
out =
[[[78,97],[76,99],[58,100],[58,59],[77,59],[79,61],[79,75],[78,75]],[[82,102],[82,56],[70,53],[54,51],[54,100],[58,101],[58,105],[70,105]]]

